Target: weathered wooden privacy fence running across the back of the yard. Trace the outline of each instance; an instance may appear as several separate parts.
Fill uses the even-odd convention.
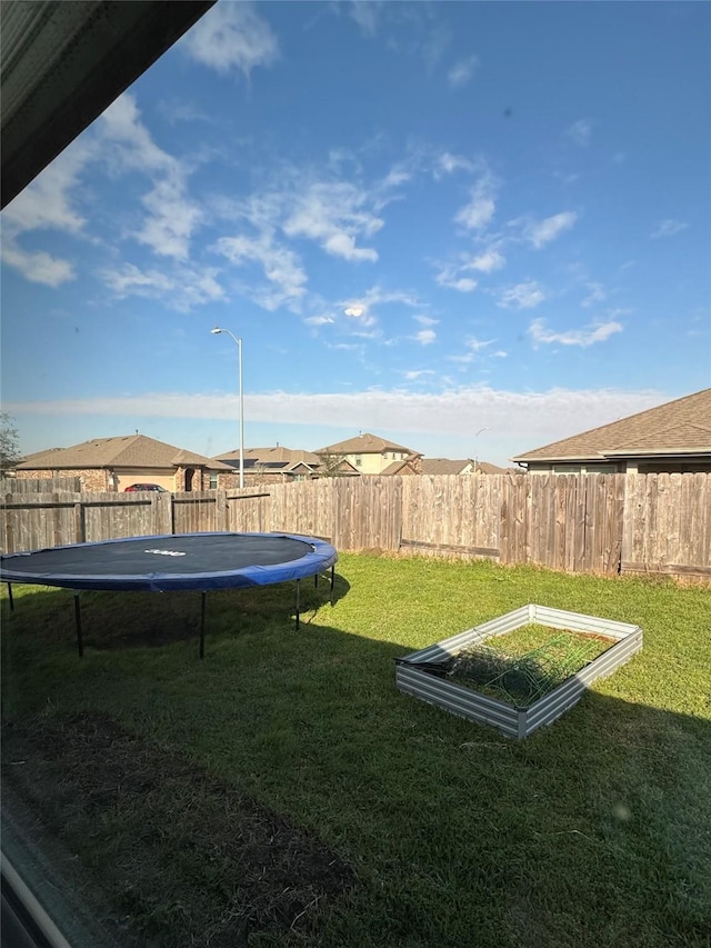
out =
[[[11,492],[4,500],[4,552],[157,533],[283,530],[341,550],[711,579],[709,473],[326,478],[176,495]]]

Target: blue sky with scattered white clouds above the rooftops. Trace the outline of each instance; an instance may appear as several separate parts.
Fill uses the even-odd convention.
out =
[[[505,465],[707,388],[710,39],[705,3],[222,0],[2,214],[22,450],[236,448],[216,325],[247,447]]]

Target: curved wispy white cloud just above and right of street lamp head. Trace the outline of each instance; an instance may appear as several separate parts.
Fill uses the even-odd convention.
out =
[[[214,249],[218,253],[241,267],[247,262],[259,263],[272,283],[270,290],[258,290],[254,299],[264,309],[274,310],[288,303],[294,306],[306,293],[307,275],[297,255],[274,242],[272,233],[263,230],[259,237],[221,237]]]

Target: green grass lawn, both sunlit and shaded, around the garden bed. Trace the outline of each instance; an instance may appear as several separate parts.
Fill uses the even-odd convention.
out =
[[[92,798],[93,824],[81,807],[71,810],[74,831],[62,821],[63,844],[108,880],[109,905],[120,897],[133,929],[153,939],[146,944],[710,944],[709,589],[365,555],[341,556],[333,606],[322,586],[302,586],[298,633],[292,586],[209,595],[202,661],[197,593],[82,595],[81,660],[70,593],[16,587],[12,618],[2,603],[11,730],[57,736],[78,712],[108,716],[129,737],[104,740],[107,766],[112,747],[143,755],[142,766],[152,748],[220,788],[196,808],[198,791],[181,798],[192,785],[171,764],[164,794],[179,805],[157,802],[160,788],[144,795],[162,820],[153,826],[162,849],[141,876],[140,910],[127,908],[132,870],[121,856],[140,811]],[[521,742],[395,689],[395,657],[527,602],[637,623],[643,650]],[[217,931],[201,940],[191,900],[169,900],[151,880],[162,874],[190,891],[194,874],[229,902],[231,864],[214,846],[206,855],[191,825],[232,807],[221,802],[232,791],[318,840],[333,872],[351,867],[354,885],[314,897],[281,927],[254,922],[243,941]]]

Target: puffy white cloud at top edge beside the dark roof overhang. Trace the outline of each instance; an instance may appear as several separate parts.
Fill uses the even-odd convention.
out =
[[[258,66],[279,58],[279,42],[252,3],[216,3],[186,33],[181,48],[197,62],[218,72],[239,70],[249,78]]]

